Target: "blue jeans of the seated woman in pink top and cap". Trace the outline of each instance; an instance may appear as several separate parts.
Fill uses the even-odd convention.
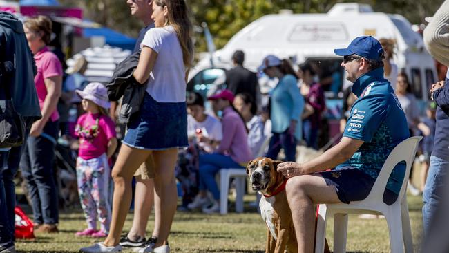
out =
[[[220,169],[242,168],[231,156],[220,153],[208,153],[200,155],[200,191],[211,191],[215,200],[220,200],[220,190],[218,190],[215,175]]]

